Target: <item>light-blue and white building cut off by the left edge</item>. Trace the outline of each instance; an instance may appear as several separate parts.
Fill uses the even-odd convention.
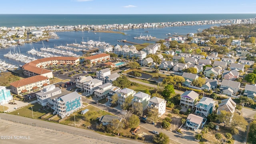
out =
[[[8,104],[13,100],[11,90],[6,89],[6,86],[0,86],[0,106]]]

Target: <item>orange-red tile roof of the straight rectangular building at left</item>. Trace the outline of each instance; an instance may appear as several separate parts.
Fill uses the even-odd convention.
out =
[[[49,79],[49,78],[47,78],[45,76],[37,75],[37,76],[29,77],[29,78],[24,78],[22,80],[18,80],[16,82],[12,82],[12,83],[10,83],[10,85],[18,88],[20,86],[25,86],[28,84],[32,84],[32,83],[39,82],[41,80],[47,80],[47,79]]]

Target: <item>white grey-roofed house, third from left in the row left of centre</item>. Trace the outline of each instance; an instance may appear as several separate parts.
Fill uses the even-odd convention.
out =
[[[114,86],[112,86],[112,84],[110,83],[102,84],[98,86],[97,89],[94,90],[94,96],[100,99],[106,98],[113,87]]]

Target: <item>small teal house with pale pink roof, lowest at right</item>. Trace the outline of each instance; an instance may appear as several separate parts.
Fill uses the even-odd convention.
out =
[[[186,119],[185,126],[188,128],[188,130],[197,131],[198,129],[202,128],[205,122],[206,118],[202,118],[194,114],[189,114],[188,118]]]

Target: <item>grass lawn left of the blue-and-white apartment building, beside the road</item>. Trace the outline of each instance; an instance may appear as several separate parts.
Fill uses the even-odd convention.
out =
[[[40,104],[29,104],[28,106],[24,106],[23,108],[20,108],[18,110],[10,112],[10,114],[32,118],[32,110],[30,108],[31,106],[33,108],[34,118],[40,118],[41,116],[48,113],[48,112],[42,110],[42,106]]]

